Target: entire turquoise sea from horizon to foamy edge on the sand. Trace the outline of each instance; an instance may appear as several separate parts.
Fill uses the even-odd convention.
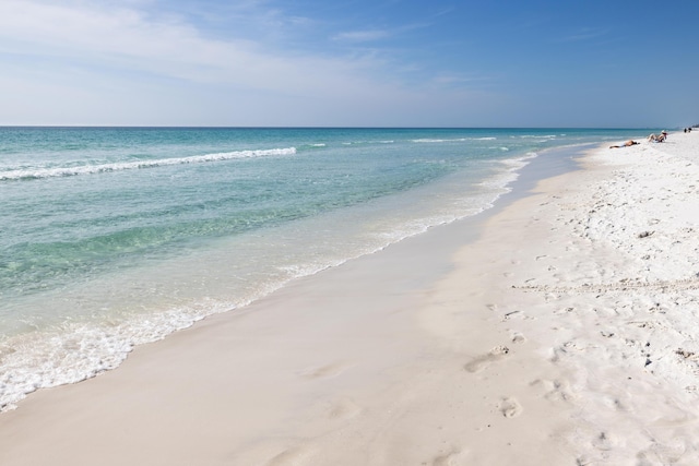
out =
[[[0,407],[631,130],[0,128]]]

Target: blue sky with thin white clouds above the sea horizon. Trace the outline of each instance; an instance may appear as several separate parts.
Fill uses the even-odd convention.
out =
[[[0,0],[0,126],[683,128],[696,0]]]

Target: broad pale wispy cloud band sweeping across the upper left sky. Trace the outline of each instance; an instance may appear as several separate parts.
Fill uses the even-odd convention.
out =
[[[182,19],[98,3],[0,2],[0,51],[252,88],[318,88],[366,62],[287,57],[245,38],[213,39]],[[312,74],[308,70],[316,70]]]

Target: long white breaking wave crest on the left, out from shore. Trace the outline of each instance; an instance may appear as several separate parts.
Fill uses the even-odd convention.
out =
[[[232,160],[236,158],[254,158],[270,155],[294,155],[296,147],[271,148],[258,151],[234,151],[216,154],[193,155],[189,157],[161,158],[155,160],[118,162],[99,165],[82,165],[78,167],[25,168],[0,171],[0,181],[32,180],[42,178],[73,177],[79,175],[104,174],[108,171],[133,170],[141,168],[164,167],[170,165],[202,164],[206,162]]]

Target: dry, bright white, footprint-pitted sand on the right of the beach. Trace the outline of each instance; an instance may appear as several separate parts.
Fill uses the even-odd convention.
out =
[[[699,464],[699,134],[587,166],[508,211],[494,313],[556,368],[522,377],[569,410],[579,464]]]

